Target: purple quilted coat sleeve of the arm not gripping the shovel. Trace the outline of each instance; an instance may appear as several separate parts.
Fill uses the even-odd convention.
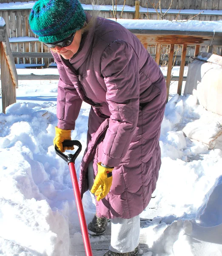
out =
[[[103,52],[101,72],[111,112],[102,163],[118,166],[128,151],[139,115],[138,57],[130,44],[114,41]]]

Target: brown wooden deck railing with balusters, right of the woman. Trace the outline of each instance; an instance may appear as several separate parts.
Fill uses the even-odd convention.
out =
[[[182,55],[180,62],[180,71],[178,79],[177,93],[180,95],[182,90],[182,81],[186,61],[186,52],[188,46],[195,46],[194,57],[198,55],[202,46],[207,46],[207,52],[212,52],[213,46],[222,46],[222,32],[200,32],[200,31],[173,31],[173,30],[151,30],[151,29],[129,29],[134,33],[142,44],[147,47],[149,44],[156,44],[156,62],[159,59],[164,45],[170,45],[168,54],[168,69],[166,77],[167,101],[171,83],[171,73],[174,61],[174,47],[182,46]]]

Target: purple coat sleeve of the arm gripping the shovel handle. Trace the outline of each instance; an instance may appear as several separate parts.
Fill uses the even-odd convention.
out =
[[[59,56],[57,53],[51,52],[57,63],[57,69],[60,75],[57,95],[57,126],[64,130],[74,130],[76,119],[80,113],[82,99],[80,99],[74,87],[75,81],[70,81],[68,78]]]

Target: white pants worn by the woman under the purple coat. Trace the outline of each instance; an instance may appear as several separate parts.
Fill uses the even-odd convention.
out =
[[[94,183],[93,161],[88,166],[88,187]],[[139,245],[139,215],[130,219],[111,219],[111,243],[109,249],[115,253],[132,252]]]

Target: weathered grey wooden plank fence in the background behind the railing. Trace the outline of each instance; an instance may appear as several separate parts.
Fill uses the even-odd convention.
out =
[[[29,2],[29,0],[0,0],[0,3],[10,3],[10,2]],[[82,0],[82,3],[85,4],[91,4],[91,0]],[[98,3],[103,3],[105,5],[111,5],[111,0],[98,0]],[[129,6],[135,6],[135,3],[139,3],[142,7],[152,7],[150,2],[157,4],[159,0],[126,0],[126,4]],[[171,0],[162,0],[162,8],[168,8]],[[117,0],[118,4],[122,4],[123,0]],[[195,3],[195,5],[194,5]],[[207,3],[207,4],[203,4]],[[212,3],[212,6],[211,4]],[[222,8],[222,0],[173,0],[171,9],[179,9],[179,8],[193,8],[193,9],[201,9],[201,8],[215,8],[219,9]],[[210,8],[211,6],[211,8]],[[26,64],[28,67],[48,67],[48,64],[51,62],[54,62],[54,59],[51,58],[50,51],[48,47],[46,47],[44,44],[38,41],[38,38],[34,33],[31,31],[28,17],[31,12],[31,9],[1,9],[0,6],[0,17],[3,17],[6,21],[6,31],[9,35],[9,41],[11,45],[11,50],[13,52],[13,56],[15,64]],[[93,11],[88,11],[89,13],[92,13]],[[178,11],[179,12],[179,11]],[[120,18],[121,12],[117,12],[117,17]],[[101,11],[99,14],[100,17],[105,18],[111,18],[112,12],[111,11]],[[138,15],[139,19],[152,19],[157,20],[158,15],[156,12],[140,12]],[[186,20],[194,17],[192,13],[187,14],[179,14],[177,16],[176,13],[168,13],[165,15],[166,20],[175,20],[177,17],[178,20]],[[135,18],[135,12],[123,12],[122,18],[126,19],[134,19]],[[198,15],[194,19],[196,20],[222,20],[222,15]],[[147,45],[147,50],[150,52],[150,54],[155,58],[155,52],[156,52],[156,46],[155,45]],[[162,48],[162,55],[165,55],[164,51],[168,51],[168,47]],[[200,51],[205,51],[205,47],[201,47]],[[20,52],[29,52],[29,55],[19,55]],[[35,52],[45,52],[49,53],[49,55],[35,55]],[[213,47],[212,52],[215,54],[221,54],[221,47]],[[31,54],[33,53],[33,54]],[[177,56],[181,56],[182,53],[182,47],[178,48],[176,51]],[[194,55],[194,47],[188,46],[187,50],[187,59],[189,56]],[[48,57],[46,57],[48,56]],[[43,58],[44,57],[44,58]],[[161,59],[160,64],[166,64],[165,61],[167,61],[167,56],[165,56],[165,59]],[[164,62],[163,62],[164,61]],[[179,62],[176,62],[176,64],[179,64]]]

